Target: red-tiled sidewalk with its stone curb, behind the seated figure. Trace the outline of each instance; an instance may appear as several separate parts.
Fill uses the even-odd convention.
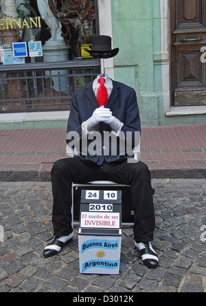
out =
[[[66,155],[65,129],[1,130],[0,181],[50,181],[53,162]],[[143,127],[141,161],[152,178],[206,176],[206,124]]]

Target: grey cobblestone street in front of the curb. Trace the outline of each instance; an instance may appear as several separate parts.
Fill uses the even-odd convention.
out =
[[[0,182],[0,292],[206,292],[206,179],[152,179],[153,246],[159,267],[139,259],[123,227],[118,275],[80,274],[78,226],[57,256],[43,257],[52,238],[50,182]]]

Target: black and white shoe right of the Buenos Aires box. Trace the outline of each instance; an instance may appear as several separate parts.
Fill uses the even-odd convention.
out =
[[[157,267],[159,259],[150,242],[137,243],[135,241],[135,246],[139,250],[139,253],[141,254],[141,259],[145,265],[152,268]]]

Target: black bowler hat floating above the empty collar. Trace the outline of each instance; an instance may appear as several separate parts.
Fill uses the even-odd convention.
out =
[[[97,35],[91,37],[91,50],[85,49],[94,58],[111,58],[119,52],[119,48],[111,49],[111,37]]]

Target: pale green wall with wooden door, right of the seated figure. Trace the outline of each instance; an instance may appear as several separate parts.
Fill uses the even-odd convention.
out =
[[[115,79],[136,89],[141,124],[205,123],[205,5],[111,1]]]

